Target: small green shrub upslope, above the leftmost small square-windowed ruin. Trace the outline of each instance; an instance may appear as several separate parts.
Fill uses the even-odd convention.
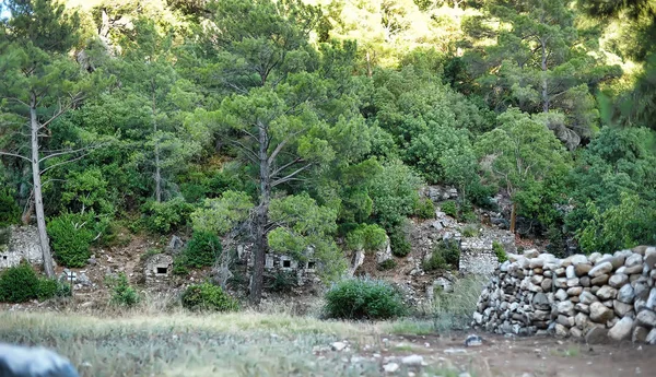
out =
[[[169,201],[149,201],[141,208],[147,215],[145,226],[150,232],[167,234],[187,224],[194,205],[187,203],[183,198]]]

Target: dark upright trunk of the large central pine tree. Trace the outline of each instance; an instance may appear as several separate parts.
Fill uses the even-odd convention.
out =
[[[255,217],[255,258],[250,281],[250,302],[253,304],[259,304],[262,296],[265,259],[267,258],[267,249],[269,248],[267,226],[269,223],[269,202],[271,200],[271,169],[267,151],[269,145],[269,134],[263,125],[258,125],[258,128],[260,203],[256,209]]]

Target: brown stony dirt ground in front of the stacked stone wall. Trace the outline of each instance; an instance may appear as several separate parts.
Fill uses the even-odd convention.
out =
[[[480,377],[656,376],[656,346],[630,342],[587,345],[546,337],[480,335],[483,344],[472,347],[464,346],[467,333],[390,335],[388,351],[380,357],[418,354],[430,365],[471,370],[472,376]],[[403,353],[395,350],[403,350]]]

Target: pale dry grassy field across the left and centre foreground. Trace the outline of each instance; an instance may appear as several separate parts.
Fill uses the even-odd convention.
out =
[[[384,347],[382,334],[424,330],[406,322],[353,323],[237,313],[91,317],[0,314],[0,340],[57,350],[82,376],[378,376],[382,361],[344,362],[350,351]]]

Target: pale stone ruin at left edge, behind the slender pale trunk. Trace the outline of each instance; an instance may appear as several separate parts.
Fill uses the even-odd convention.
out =
[[[36,227],[10,226],[0,233],[0,269],[19,266],[23,259],[32,264],[43,264]]]

